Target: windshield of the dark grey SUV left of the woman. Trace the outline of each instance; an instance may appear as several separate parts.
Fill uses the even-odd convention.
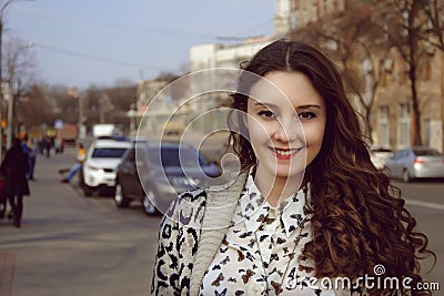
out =
[[[159,162],[159,157],[157,152],[159,149],[151,149],[149,151],[149,157],[150,161],[153,163]],[[179,154],[180,151],[180,154]],[[180,156],[180,159],[179,159]],[[162,166],[168,167],[168,166],[196,166],[199,165],[205,165],[206,162],[202,157],[202,155],[199,154],[198,151],[189,147],[182,147],[179,150],[179,147],[162,147],[161,152],[161,157],[162,157]]]

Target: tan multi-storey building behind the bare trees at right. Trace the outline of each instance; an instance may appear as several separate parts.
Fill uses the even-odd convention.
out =
[[[370,1],[365,0],[282,0],[279,2],[284,7],[290,6],[290,12],[281,13],[276,23],[281,25],[280,30],[284,30],[286,25],[290,31],[315,25],[316,21],[323,18],[332,18],[332,16],[341,18],[347,10],[355,10],[356,13],[360,13],[363,11],[359,10],[360,7],[370,6]],[[359,49],[355,50],[359,51]],[[426,45],[423,45],[418,52],[417,95],[422,126],[418,132],[424,145],[443,152],[444,53]],[[380,60],[372,64],[369,63],[369,59],[360,59],[359,53],[355,57],[356,60],[352,64],[360,68],[356,73],[361,75],[362,95],[373,98],[370,116],[373,143],[392,150],[411,146],[416,131],[414,131],[413,124],[408,64],[395,49],[392,49],[384,59],[381,53]],[[372,67],[377,69],[372,69]],[[373,78],[369,75],[370,70],[381,71],[374,96],[371,88]]]

